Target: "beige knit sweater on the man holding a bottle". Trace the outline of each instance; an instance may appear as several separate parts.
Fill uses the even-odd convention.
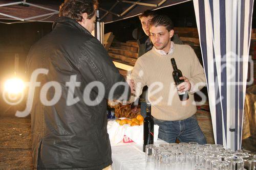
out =
[[[135,81],[136,98],[148,86],[148,100],[152,104],[152,115],[161,120],[183,120],[196,113],[194,94],[181,102],[174,84],[170,62],[175,58],[178,69],[194,85],[194,91],[205,86],[205,75],[194,50],[188,45],[174,44],[174,52],[161,55],[154,48],[138,58],[131,78]],[[135,101],[132,97],[130,101]]]

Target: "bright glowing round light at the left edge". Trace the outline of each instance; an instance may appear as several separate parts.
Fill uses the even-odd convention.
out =
[[[18,94],[23,92],[25,84],[23,80],[18,78],[12,78],[5,82],[4,90],[10,94]]]

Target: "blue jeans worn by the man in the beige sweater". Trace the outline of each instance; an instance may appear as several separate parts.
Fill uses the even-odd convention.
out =
[[[198,142],[205,144],[205,136],[200,129],[196,115],[184,120],[166,121],[154,118],[155,125],[159,126],[158,138],[168,142],[175,143],[176,138],[180,142]]]

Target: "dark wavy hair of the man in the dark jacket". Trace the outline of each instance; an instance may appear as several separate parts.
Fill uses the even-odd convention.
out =
[[[87,13],[88,19],[94,16],[95,7],[98,7],[97,0],[65,0],[59,7],[59,16],[66,16],[81,22],[83,13]]]

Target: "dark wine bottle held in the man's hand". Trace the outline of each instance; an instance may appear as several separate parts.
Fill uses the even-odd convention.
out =
[[[181,72],[181,70],[179,70],[177,68],[177,65],[176,65],[176,62],[175,62],[174,58],[171,58],[170,62],[172,63],[173,69],[174,69],[173,78],[174,78],[174,81],[175,81],[175,85],[178,86],[179,84],[184,82],[184,80],[180,80],[180,77],[182,77],[182,72]],[[179,94],[179,98],[180,98],[181,101],[186,101],[186,100],[189,99],[187,91],[183,91],[183,92],[178,91],[178,94]]]

